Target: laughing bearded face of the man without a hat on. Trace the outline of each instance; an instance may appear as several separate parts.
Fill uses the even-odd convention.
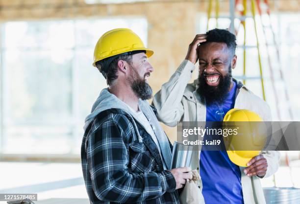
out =
[[[198,48],[198,94],[202,103],[222,104],[232,85],[231,70],[236,66],[236,55],[225,43],[209,42]]]

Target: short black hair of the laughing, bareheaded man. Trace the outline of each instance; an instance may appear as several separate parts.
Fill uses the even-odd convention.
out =
[[[212,29],[206,32],[206,43],[225,43],[232,53],[235,54],[236,48],[236,37],[234,34],[230,33],[227,29]]]

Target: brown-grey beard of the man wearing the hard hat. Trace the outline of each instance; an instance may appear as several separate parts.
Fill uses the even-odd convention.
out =
[[[152,98],[152,88],[150,85],[146,82],[145,78],[141,78],[137,71],[133,68],[130,67],[132,72],[131,76],[128,79],[130,83],[130,87],[135,93],[135,95],[138,98],[141,98],[142,100],[148,100]],[[149,73],[150,74],[150,73]]]

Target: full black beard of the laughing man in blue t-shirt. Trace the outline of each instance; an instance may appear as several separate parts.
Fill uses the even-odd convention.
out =
[[[230,68],[229,68],[230,69]],[[216,87],[209,86],[206,83],[204,72],[198,76],[198,86],[196,90],[201,96],[201,102],[204,104],[204,99],[207,105],[213,103],[223,103],[228,95],[229,87],[231,84],[231,74],[225,75],[224,77],[220,75],[219,84]]]

